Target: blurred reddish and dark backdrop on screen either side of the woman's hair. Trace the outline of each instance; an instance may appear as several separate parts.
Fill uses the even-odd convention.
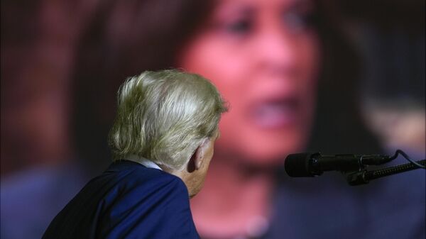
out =
[[[362,119],[388,152],[425,158],[425,1],[328,2],[361,57]],[[22,172],[73,157],[73,60],[98,4],[1,1],[1,189]]]

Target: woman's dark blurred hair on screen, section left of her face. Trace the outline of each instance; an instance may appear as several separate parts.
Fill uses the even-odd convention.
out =
[[[175,65],[182,45],[208,16],[209,1],[106,0],[82,30],[72,79],[71,130],[89,167],[110,162],[107,135],[127,77]]]

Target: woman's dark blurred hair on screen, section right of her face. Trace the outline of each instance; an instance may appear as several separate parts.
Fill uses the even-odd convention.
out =
[[[322,48],[322,70],[317,89],[317,113],[307,150],[377,153],[381,151],[378,140],[361,118],[360,56],[344,34],[339,9],[329,1],[316,3],[315,25]]]

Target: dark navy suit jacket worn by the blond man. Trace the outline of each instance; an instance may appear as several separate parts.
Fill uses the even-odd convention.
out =
[[[87,183],[60,211],[43,235],[50,238],[199,236],[180,178],[121,160]]]

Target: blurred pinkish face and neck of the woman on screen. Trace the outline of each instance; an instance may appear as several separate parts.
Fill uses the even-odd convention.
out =
[[[204,188],[191,201],[200,235],[246,235],[268,218],[271,168],[310,135],[320,60],[310,1],[222,0],[183,48],[180,67],[211,79],[230,110]]]

